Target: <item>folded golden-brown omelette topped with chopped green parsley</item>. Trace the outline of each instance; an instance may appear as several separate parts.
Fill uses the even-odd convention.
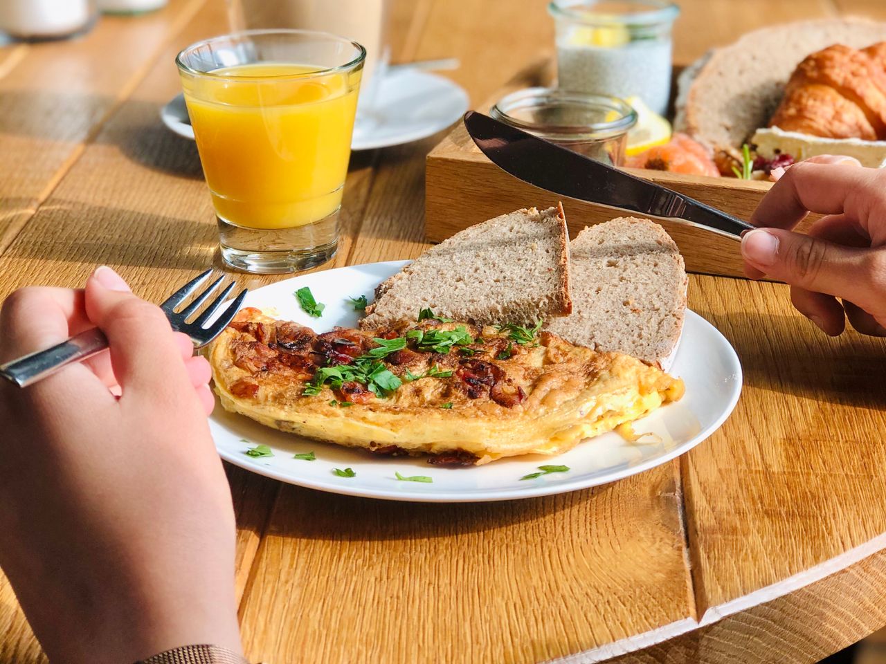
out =
[[[209,351],[221,405],[268,427],[479,465],[558,454],[679,399],[683,382],[536,327],[434,316],[317,334],[245,308]]]

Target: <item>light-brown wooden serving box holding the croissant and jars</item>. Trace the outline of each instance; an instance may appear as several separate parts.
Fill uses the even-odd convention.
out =
[[[488,112],[494,101],[515,89],[545,85],[552,80],[552,60],[544,58],[518,73],[494,99],[478,110]],[[674,72],[676,80],[677,72]],[[629,173],[674,189],[742,220],[772,186],[767,181],[704,177],[626,169]],[[582,228],[620,216],[618,211],[538,189],[505,173],[479,151],[459,122],[428,155],[425,170],[425,235],[440,242],[462,228],[521,207],[539,209],[563,201],[571,237]],[[630,212],[625,212],[625,215]],[[814,217],[805,220],[801,230]],[[736,241],[669,220],[657,219],[680,246],[690,272],[743,276]]]

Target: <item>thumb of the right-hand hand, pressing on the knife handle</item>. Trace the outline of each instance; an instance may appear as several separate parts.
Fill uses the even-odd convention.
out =
[[[781,228],[758,228],[742,237],[742,258],[767,277],[805,290],[847,297],[864,306],[872,282],[872,251],[835,244]],[[862,297],[859,297],[861,294]]]

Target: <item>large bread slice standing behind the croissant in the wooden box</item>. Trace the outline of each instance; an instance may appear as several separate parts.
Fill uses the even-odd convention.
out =
[[[742,143],[768,126],[806,56],[835,43],[859,49],[884,39],[886,23],[867,19],[812,19],[754,30],[706,56],[692,80],[680,77],[674,127],[741,159]]]

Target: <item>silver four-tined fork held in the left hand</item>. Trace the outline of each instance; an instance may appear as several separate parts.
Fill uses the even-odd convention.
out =
[[[224,281],[224,274],[209,284],[190,305],[186,306],[182,311],[175,312],[176,307],[182,305],[185,299],[190,296],[201,284],[206,282],[209,276],[213,274],[213,268],[209,268],[206,272],[198,274],[197,277],[191,279],[183,285],[182,288],[176,290],[169,296],[160,309],[166,313],[169,324],[176,332],[183,332],[190,336],[190,341],[194,344],[194,348],[200,348],[211,342],[216,336],[221,334],[221,330],[228,326],[228,323],[237,314],[240,305],[243,304],[243,298],[248,292],[246,289],[241,290],[233,302],[221,309],[225,298],[228,297],[232,290],[237,286],[237,282],[229,283],[228,287],[221,291],[218,296],[203,310],[203,313],[191,321],[195,313],[198,313],[200,307],[209,299],[210,296],[218,289],[221,282]],[[217,314],[217,318],[213,320],[213,316]],[[209,321],[212,320],[212,324]],[[97,352],[104,351],[108,347],[108,340],[105,333],[98,328],[87,329],[79,335],[72,336],[61,344],[56,344],[43,351],[32,352],[29,355],[13,359],[4,365],[0,365],[0,375],[7,380],[16,383],[19,387],[27,387],[31,383],[37,382],[49,374],[52,374],[61,367],[66,367],[73,362],[81,362],[90,358]]]

